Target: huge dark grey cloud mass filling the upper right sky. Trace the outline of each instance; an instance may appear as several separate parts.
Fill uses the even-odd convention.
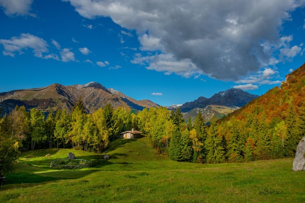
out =
[[[271,61],[278,63],[300,53],[299,46],[289,45],[291,41],[281,45],[285,39],[279,37],[279,28],[304,1],[63,1],[69,1],[82,17],[111,17],[121,27],[136,30],[142,51],[173,56],[172,64],[192,64],[175,69],[160,57],[148,59],[147,66],[158,71],[188,75],[196,67],[212,78],[236,81]],[[133,61],[144,60],[135,56]]]

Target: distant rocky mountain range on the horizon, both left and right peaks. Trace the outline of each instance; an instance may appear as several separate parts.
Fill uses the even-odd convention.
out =
[[[241,89],[232,88],[214,94],[211,98],[199,97],[195,101],[182,105],[172,105],[168,109],[180,107],[184,118],[195,118],[200,110],[208,122],[214,115],[218,118],[239,109],[249,101],[257,98]],[[81,99],[88,113],[95,112],[106,103],[115,108],[122,107],[127,110],[141,111],[144,108],[158,107],[150,100],[137,101],[113,88],[107,89],[103,85],[90,82],[86,85],[60,85],[53,84],[47,87],[14,90],[0,93],[0,108],[2,115],[9,113],[16,105],[25,106],[26,110],[37,108],[40,111],[56,111],[58,108],[70,111],[77,101]]]

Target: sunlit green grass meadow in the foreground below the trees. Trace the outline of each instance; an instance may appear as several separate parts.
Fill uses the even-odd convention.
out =
[[[80,170],[51,169],[66,158],[93,162]],[[109,160],[102,160],[103,154]],[[50,156],[46,156],[50,154]],[[292,171],[293,159],[242,164],[174,162],[156,154],[150,139],[118,139],[103,154],[71,149],[24,152],[6,175],[0,202],[11,203],[252,203],[305,202],[305,171]]]

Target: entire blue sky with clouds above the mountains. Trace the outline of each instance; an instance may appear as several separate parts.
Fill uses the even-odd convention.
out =
[[[305,63],[305,0],[0,0],[0,92],[97,82],[183,104]]]

